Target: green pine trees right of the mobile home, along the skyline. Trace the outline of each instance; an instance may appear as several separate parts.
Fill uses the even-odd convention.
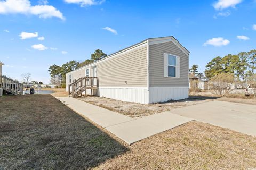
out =
[[[203,73],[198,73],[197,69],[198,66],[193,65],[191,69],[189,69],[189,72],[196,75],[199,79],[206,78],[210,80],[215,77],[215,75],[230,73],[233,74],[237,80],[246,81],[246,79],[254,75],[256,71],[256,50],[213,58],[205,66],[205,77]]]

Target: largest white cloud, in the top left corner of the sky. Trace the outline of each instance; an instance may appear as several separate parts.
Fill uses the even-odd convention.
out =
[[[0,1],[0,14],[31,14],[37,15],[39,18],[57,17],[65,20],[63,14],[51,5],[35,5],[31,6],[29,0],[5,0]]]

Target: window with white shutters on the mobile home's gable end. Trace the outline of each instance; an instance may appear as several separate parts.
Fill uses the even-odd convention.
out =
[[[180,77],[180,57],[164,53],[164,77]]]

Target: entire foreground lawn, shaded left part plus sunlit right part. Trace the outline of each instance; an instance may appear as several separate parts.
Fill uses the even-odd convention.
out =
[[[51,95],[0,98],[0,169],[248,169],[256,138],[189,122],[131,146]]]

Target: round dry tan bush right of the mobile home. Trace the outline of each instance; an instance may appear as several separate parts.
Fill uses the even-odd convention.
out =
[[[218,75],[215,75],[210,83],[209,86],[211,89],[213,89],[213,93],[215,95],[218,95],[220,97],[227,96],[232,89],[232,86],[234,85],[234,74],[230,73],[220,73]]]

